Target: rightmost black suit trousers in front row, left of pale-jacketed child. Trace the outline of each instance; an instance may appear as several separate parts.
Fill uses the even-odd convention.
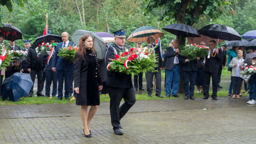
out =
[[[203,86],[203,95],[209,97],[209,88],[210,88],[210,77],[212,81],[212,94],[211,97],[217,97],[217,83],[218,83],[218,73],[204,72],[204,86]]]

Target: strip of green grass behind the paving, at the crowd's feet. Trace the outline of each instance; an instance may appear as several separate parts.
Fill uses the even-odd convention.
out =
[[[165,92],[161,93],[162,96],[164,96],[164,98],[159,98],[159,97],[155,97],[155,93],[152,94],[153,97],[147,97],[147,93],[142,93],[142,94],[136,94],[136,99],[137,100],[155,100],[155,99],[184,99],[184,94],[178,94],[180,96],[180,98],[166,98],[165,96]],[[211,95],[211,91],[210,91],[210,95]],[[219,91],[218,92],[218,97],[227,97],[228,95],[228,91]],[[248,95],[248,94],[247,94]],[[244,95],[244,96],[247,96]],[[195,91],[194,94],[194,98],[203,98],[203,94],[197,94]],[[49,99],[48,97],[27,97],[27,98],[23,98],[23,99],[19,99],[16,102],[13,101],[9,101],[9,100],[2,100],[0,99],[0,105],[1,106],[6,106],[6,105],[41,105],[41,104],[60,104],[60,103],[75,103],[75,100],[73,101],[67,101],[66,99],[62,99],[57,101],[56,100],[57,97],[53,97],[52,99]],[[100,96],[100,101],[101,102],[109,102],[110,98],[109,95],[101,95]]]

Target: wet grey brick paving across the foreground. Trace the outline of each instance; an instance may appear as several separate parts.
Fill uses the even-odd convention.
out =
[[[0,144],[256,144],[256,107],[247,99],[137,101],[121,120],[124,135],[113,133],[102,102],[91,138],[73,103],[0,106]]]

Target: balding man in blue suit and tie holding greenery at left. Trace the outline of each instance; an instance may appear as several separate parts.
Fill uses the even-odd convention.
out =
[[[55,54],[54,54],[54,59],[53,59],[53,65],[52,65],[52,70],[54,72],[58,73],[58,99],[57,100],[61,100],[63,97],[63,81],[65,80],[65,93],[64,93],[64,97],[67,100],[69,99],[69,89],[70,89],[70,79],[71,79],[71,75],[72,72],[74,70],[74,64],[73,63],[69,63],[68,61],[64,60],[63,58],[59,57],[58,51],[61,48],[70,46],[70,45],[75,45],[73,43],[71,43],[68,38],[69,35],[67,32],[63,32],[62,33],[62,40],[63,42],[59,43],[57,45]]]

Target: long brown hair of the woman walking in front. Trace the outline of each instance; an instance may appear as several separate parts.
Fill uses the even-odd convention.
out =
[[[87,38],[89,38],[89,37],[92,38],[92,47],[91,47],[91,51],[92,51],[93,53],[95,52],[95,48],[94,48],[94,46],[93,46],[93,45],[94,45],[93,37],[92,37],[90,34],[84,34],[84,35],[80,38],[79,44],[78,44],[78,50],[77,50],[77,52],[80,53],[80,57],[79,57],[78,59],[80,59],[80,58],[86,56],[86,47],[83,45],[83,43],[84,43],[84,41],[85,41]]]

